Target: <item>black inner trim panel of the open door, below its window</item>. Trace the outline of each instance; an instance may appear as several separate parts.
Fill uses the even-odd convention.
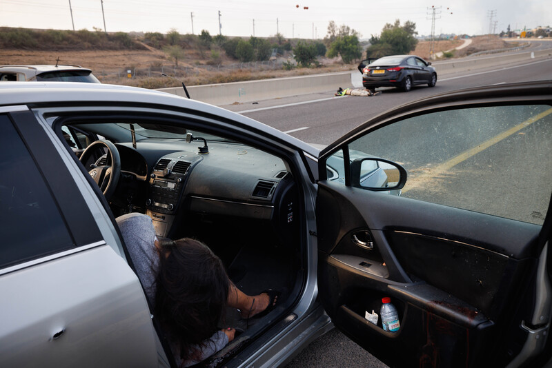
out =
[[[540,226],[329,181],[319,182],[317,213],[334,215],[317,216],[318,280],[345,334],[391,366],[491,362],[504,316],[522,313],[516,299],[535,269]],[[359,231],[373,250],[355,245]],[[399,311],[397,334],[364,319],[384,296]]]

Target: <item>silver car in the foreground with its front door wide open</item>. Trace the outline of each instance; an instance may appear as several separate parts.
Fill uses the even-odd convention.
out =
[[[128,212],[204,241],[246,293],[285,290],[262,318],[228,311],[242,332],[209,367],[284,365],[333,326],[389,366],[544,365],[551,85],[440,94],[319,151],[163,92],[0,83],[0,366],[177,366]],[[365,319],[384,297],[397,332]]]

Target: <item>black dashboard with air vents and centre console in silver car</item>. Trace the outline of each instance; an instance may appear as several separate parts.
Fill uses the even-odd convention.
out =
[[[128,189],[119,190],[119,203],[136,198],[125,210],[145,207],[158,236],[171,237],[179,219],[194,214],[255,218],[280,230],[294,223],[295,181],[277,156],[228,142],[209,142],[208,153],[200,154],[197,143],[181,139],[148,139],[137,148],[132,143],[116,147],[121,176],[125,182],[133,176],[137,183],[133,190],[140,192],[129,195]]]

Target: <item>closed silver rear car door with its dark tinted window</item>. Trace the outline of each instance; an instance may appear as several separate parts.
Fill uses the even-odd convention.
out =
[[[0,114],[0,131],[0,366],[157,365],[139,280],[97,225],[108,215],[31,112]]]

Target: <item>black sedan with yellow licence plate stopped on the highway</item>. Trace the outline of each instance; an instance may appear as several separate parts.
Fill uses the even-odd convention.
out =
[[[368,90],[397,87],[408,92],[413,85],[434,87],[437,83],[437,72],[431,63],[414,55],[393,55],[370,61],[363,60],[358,66],[362,72],[362,85]]]

